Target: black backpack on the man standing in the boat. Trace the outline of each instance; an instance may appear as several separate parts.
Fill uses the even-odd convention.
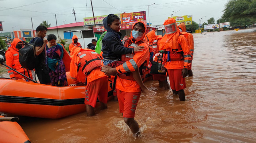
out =
[[[33,42],[19,50],[19,63],[25,69],[33,70],[35,68],[35,42],[37,39],[33,39]]]

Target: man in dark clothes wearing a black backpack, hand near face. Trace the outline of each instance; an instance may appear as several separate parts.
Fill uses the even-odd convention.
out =
[[[45,26],[38,26],[36,29],[36,36],[30,43],[35,41],[35,73],[37,74],[40,84],[51,85],[49,69],[46,65],[46,44],[47,39],[43,39],[46,36],[47,28]]]

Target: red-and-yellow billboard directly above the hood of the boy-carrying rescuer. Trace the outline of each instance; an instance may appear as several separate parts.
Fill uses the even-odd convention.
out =
[[[146,20],[146,11],[122,13],[121,23],[135,23],[140,20]]]

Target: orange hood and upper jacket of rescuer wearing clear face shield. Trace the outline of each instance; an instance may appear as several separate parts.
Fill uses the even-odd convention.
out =
[[[174,18],[169,18],[166,19],[165,22],[163,23],[164,26],[168,24],[175,23],[176,25],[176,32],[172,34],[165,34],[163,38],[160,41],[159,44],[159,50],[164,50],[164,49],[177,49],[177,41],[178,37],[180,34],[180,30],[177,26],[176,20]]]

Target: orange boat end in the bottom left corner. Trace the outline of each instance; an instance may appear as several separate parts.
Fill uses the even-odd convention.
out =
[[[0,119],[3,116],[0,116]],[[31,143],[20,125],[14,121],[0,120],[0,143]]]

